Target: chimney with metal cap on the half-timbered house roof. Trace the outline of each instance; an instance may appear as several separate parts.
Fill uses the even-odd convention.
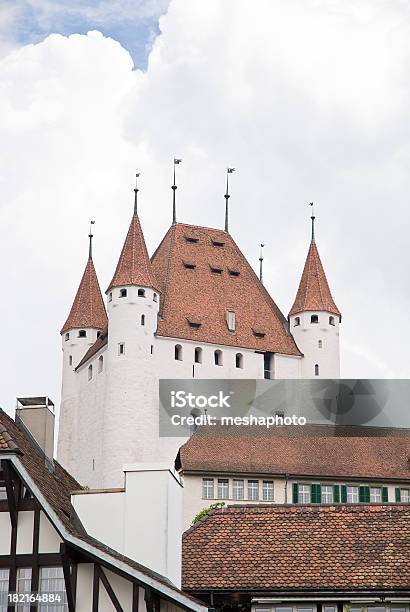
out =
[[[53,464],[54,456],[54,404],[49,397],[18,397],[16,423],[34,440]]]

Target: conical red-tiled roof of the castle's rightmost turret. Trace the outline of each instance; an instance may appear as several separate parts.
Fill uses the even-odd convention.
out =
[[[341,316],[330,293],[326,274],[314,240],[310,243],[299,289],[289,316],[306,310],[324,310]]]

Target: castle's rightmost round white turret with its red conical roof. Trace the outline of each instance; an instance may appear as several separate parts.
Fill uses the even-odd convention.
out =
[[[312,209],[312,239],[295,302],[289,313],[290,331],[303,353],[301,378],[339,378],[339,325],[337,308],[315,241]]]

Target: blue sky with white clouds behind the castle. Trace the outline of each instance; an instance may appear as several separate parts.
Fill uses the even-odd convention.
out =
[[[58,402],[59,330],[95,224],[102,289],[141,172],[171,219],[231,233],[287,314],[317,242],[344,377],[410,375],[407,0],[13,0],[0,6],[0,405]]]

